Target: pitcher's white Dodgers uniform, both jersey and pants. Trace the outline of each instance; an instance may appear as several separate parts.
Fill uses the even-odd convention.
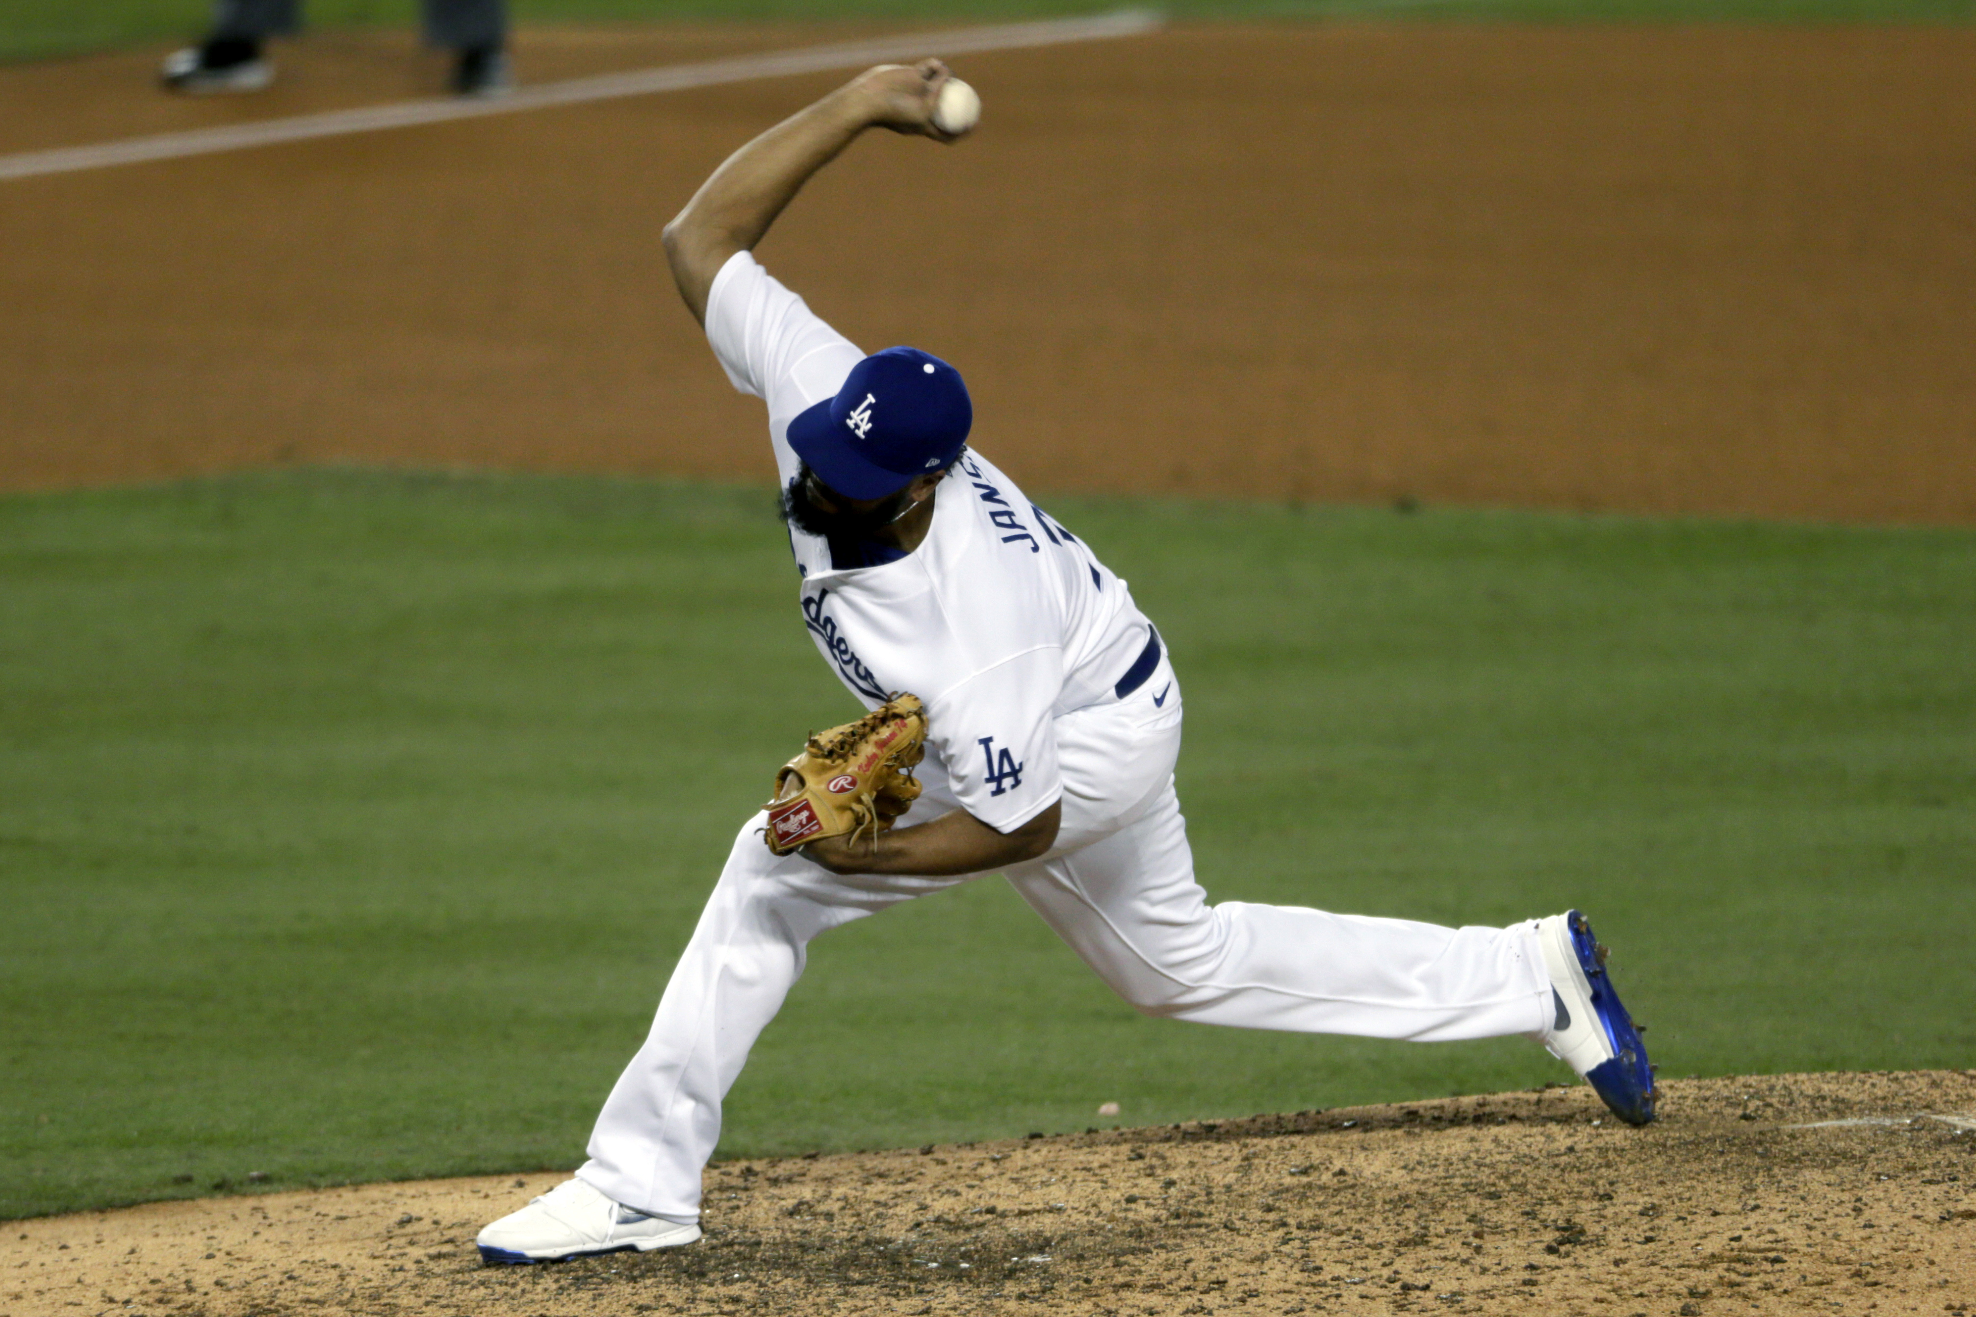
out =
[[[769,405],[786,482],[788,421],[864,357],[753,255],[707,298],[727,377]],[[802,618],[867,707],[927,705],[925,792],[905,825],[964,808],[1000,831],[1063,802],[1049,855],[1008,881],[1148,1015],[1379,1039],[1537,1035],[1551,983],[1529,924],[1439,928],[1302,906],[1209,906],[1174,794],[1180,683],[1126,582],[978,454],[935,496],[909,555],[834,567],[790,529]],[[757,1035],[828,928],[962,877],[840,877],[735,835],[644,1046],[605,1102],[577,1175],[618,1202],[696,1220],[700,1175]]]

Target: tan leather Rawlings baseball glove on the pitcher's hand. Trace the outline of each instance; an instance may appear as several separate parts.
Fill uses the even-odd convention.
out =
[[[788,855],[820,837],[877,837],[919,800],[913,764],[925,752],[927,709],[917,695],[893,695],[856,723],[810,733],[802,754],[775,774],[763,839]]]

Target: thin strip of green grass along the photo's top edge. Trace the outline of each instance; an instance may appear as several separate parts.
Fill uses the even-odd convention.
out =
[[[1093,0],[512,0],[520,24],[958,20],[1087,14]],[[1968,22],[1976,0],[1168,0],[1176,20],[1522,20],[1522,22]],[[405,26],[413,0],[308,0],[320,28]],[[172,41],[211,20],[209,0],[0,0],[0,61]]]

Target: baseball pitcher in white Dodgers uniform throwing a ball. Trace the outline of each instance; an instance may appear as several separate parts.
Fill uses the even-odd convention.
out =
[[[948,77],[935,59],[864,73],[735,152],[664,231],[715,359],[767,403],[802,624],[873,713],[812,736],[773,810],[741,825],[589,1161],[482,1230],[488,1262],[698,1240],[721,1098],[810,940],[980,873],[1008,875],[1148,1015],[1525,1035],[1620,1118],[1654,1118],[1646,1052],[1575,910],[1437,928],[1209,904],[1174,794],[1184,699],[1160,630],[1091,545],[968,448],[958,369],[917,348],[865,353],[755,261],[790,197],[865,128],[952,140],[935,122]],[[905,774],[917,798],[897,794]],[[832,790],[893,794],[834,831],[820,823]]]

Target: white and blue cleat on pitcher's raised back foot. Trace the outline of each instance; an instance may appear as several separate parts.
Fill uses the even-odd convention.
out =
[[[1654,1066],[1646,1060],[1640,1027],[1618,1001],[1606,973],[1606,950],[1577,910],[1537,920],[1543,968],[1551,973],[1557,1013],[1543,1046],[1585,1076],[1612,1114],[1628,1125],[1654,1120]]]

